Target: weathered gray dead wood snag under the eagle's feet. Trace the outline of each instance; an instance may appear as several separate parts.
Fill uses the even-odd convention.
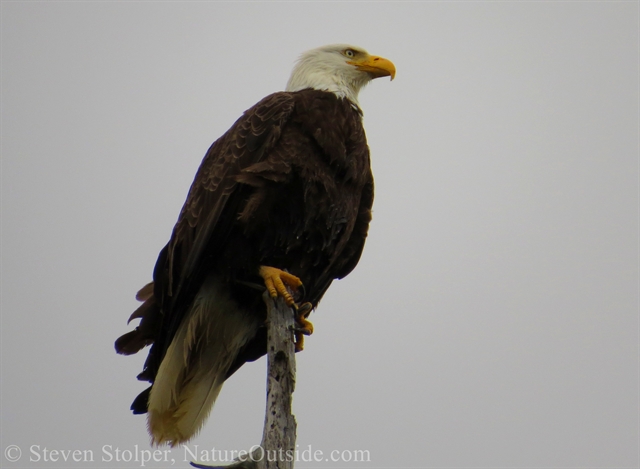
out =
[[[296,446],[296,419],[291,413],[296,384],[294,346],[295,320],[284,299],[273,300],[265,292],[267,304],[267,405],[260,446],[237,458],[228,466],[202,469],[293,469]]]

